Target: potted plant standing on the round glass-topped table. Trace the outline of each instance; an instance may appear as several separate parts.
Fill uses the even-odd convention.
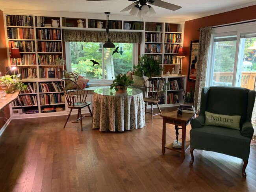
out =
[[[110,85],[110,89],[115,89],[118,92],[125,92],[128,85],[132,85],[133,80],[129,79],[126,74],[118,74],[114,79],[113,83]]]

